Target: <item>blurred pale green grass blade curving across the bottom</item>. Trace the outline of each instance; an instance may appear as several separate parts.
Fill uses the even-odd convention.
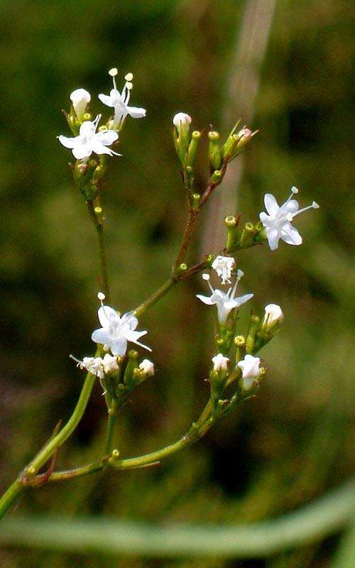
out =
[[[101,518],[8,518],[0,544],[65,552],[147,557],[268,557],[322,540],[351,521],[355,481],[282,518],[252,525],[148,525]]]

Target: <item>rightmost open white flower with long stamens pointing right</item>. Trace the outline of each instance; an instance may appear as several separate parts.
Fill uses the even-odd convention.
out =
[[[299,204],[297,200],[292,199],[293,194],[295,193],[298,193],[297,187],[291,187],[290,197],[288,197],[288,200],[286,200],[281,206],[278,205],[278,202],[271,193],[267,193],[264,197],[264,203],[268,214],[261,212],[259,217],[265,227],[268,245],[272,251],[275,251],[278,248],[278,241],[280,239],[288,244],[302,244],[302,236],[300,236],[297,229],[292,226],[291,221],[294,217],[296,217],[296,215],[303,211],[307,211],[307,209],[318,209],[318,207],[320,207],[314,201],[309,207],[298,209]]]

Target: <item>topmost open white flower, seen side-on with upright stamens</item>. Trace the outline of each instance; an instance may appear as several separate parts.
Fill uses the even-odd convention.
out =
[[[132,73],[127,73],[124,84],[124,88],[120,93],[116,87],[115,77],[117,75],[116,67],[109,70],[109,75],[111,75],[114,82],[114,88],[111,89],[110,94],[99,94],[99,99],[101,102],[107,105],[107,107],[114,107],[114,119],[112,121],[112,126],[114,129],[121,129],[124,119],[127,114],[132,116],[133,119],[141,119],[146,116],[146,109],[139,109],[138,107],[129,107],[129,97],[131,96],[131,89],[133,88]]]

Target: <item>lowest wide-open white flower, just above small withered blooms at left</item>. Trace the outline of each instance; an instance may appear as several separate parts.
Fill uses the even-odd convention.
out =
[[[151,351],[150,347],[138,342],[138,339],[148,332],[135,331],[138,320],[131,312],[120,317],[113,307],[102,304],[97,315],[102,327],[92,332],[93,342],[107,345],[114,355],[124,355],[127,350],[127,342],[136,343]]]

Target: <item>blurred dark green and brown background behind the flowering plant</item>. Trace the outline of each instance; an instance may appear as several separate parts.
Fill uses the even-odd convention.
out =
[[[263,247],[238,258],[245,289],[255,293],[253,310],[276,302],[286,316],[263,351],[269,372],[258,398],[159,469],[26,491],[11,515],[237,525],[293,510],[349,479],[355,280],[350,9],[344,0],[1,3],[1,488],[70,415],[83,376],[68,355],[91,354],[97,327],[94,231],[67,168],[70,153],[56,140],[67,134],[60,109],[68,108],[73,89],[88,89],[93,112],[99,111],[95,94],[109,92],[107,71],[116,66],[121,76],[133,72],[132,104],[147,109],[146,119],[127,119],[123,157],[112,160],[104,189],[112,296],[121,310],[163,283],[178,248],[185,211],[171,141],[175,112],[191,114],[196,128],[212,123],[223,135],[240,114],[253,116],[253,129],[261,132],[244,153],[238,185],[229,180],[230,214],[241,210],[253,221],[266,191],[283,201],[291,185],[300,188],[302,204],[321,206],[298,219],[301,247],[283,244],[277,253]],[[262,34],[268,38],[256,45],[259,64],[251,57],[242,75],[244,44],[248,38],[257,44]],[[248,101],[252,108],[245,100],[249,80],[256,92]],[[208,249],[207,228],[222,218],[212,209],[204,214],[191,258]],[[201,290],[197,277],[142,317],[157,373],[121,413],[122,455],[172,442],[203,408],[213,314],[196,300]],[[97,388],[59,465],[97,457],[105,420]],[[99,555],[29,555],[21,547],[0,558],[4,568],[321,568],[331,565],[338,544],[332,537],[265,562],[122,557],[114,564]]]

